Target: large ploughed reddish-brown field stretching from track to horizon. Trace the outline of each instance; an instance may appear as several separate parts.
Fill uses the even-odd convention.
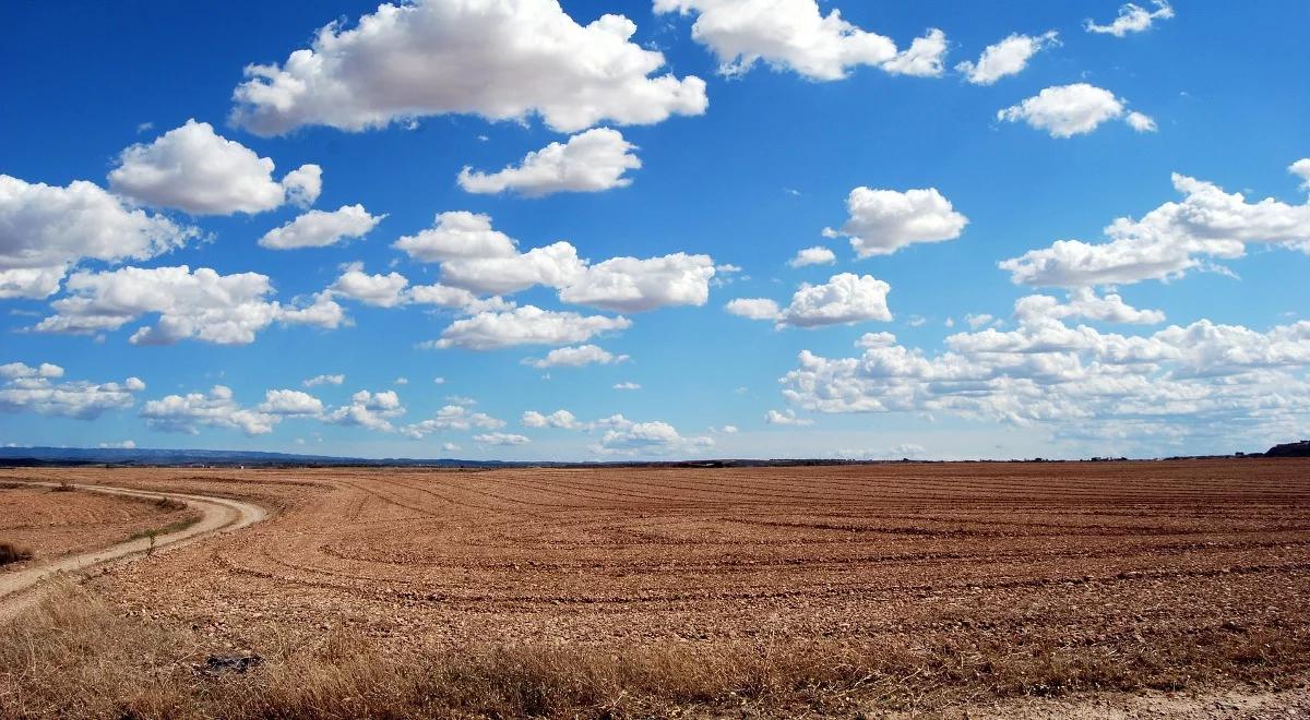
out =
[[[223,647],[348,628],[398,656],[740,647],[883,662],[802,708],[820,715],[1306,710],[1307,461],[21,474],[275,511],[90,585]],[[896,662],[924,670],[892,682]]]

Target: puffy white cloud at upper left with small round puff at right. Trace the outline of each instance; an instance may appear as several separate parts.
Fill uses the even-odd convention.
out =
[[[318,198],[317,165],[303,165],[282,182],[272,179],[272,160],[191,119],[148,145],[124,149],[109,185],[141,203],[191,215],[255,213]]]

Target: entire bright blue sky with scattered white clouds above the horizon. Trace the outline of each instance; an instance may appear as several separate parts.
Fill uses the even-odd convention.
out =
[[[1310,435],[1303,3],[0,21],[0,444],[1009,458]]]

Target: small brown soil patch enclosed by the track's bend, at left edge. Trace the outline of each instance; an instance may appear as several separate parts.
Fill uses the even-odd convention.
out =
[[[198,517],[185,505],[160,505],[152,500],[100,492],[58,492],[50,487],[0,488],[0,541],[31,549],[33,563],[96,550],[138,533]],[[4,569],[18,567],[12,564]]]

